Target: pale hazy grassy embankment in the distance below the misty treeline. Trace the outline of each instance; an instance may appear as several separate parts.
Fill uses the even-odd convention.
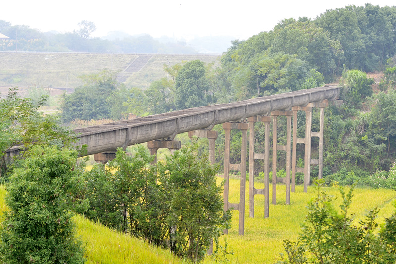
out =
[[[78,76],[102,69],[119,72],[128,87],[147,88],[166,77],[163,65],[200,59],[219,64],[220,55],[133,53],[23,53],[0,52],[0,86],[75,88]]]

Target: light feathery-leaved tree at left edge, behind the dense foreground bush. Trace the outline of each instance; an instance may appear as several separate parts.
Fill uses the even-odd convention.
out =
[[[6,157],[12,147],[21,146],[20,155],[24,158],[34,145],[70,146],[74,136],[72,131],[60,123],[55,115],[43,115],[39,111],[47,97],[34,102],[20,98],[17,88],[10,88],[6,98],[0,99],[0,177],[4,175],[13,160]]]

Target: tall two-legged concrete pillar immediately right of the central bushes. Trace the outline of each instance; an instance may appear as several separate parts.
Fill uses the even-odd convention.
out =
[[[239,211],[239,224],[238,224],[238,234],[240,236],[244,235],[244,225],[245,225],[245,184],[246,184],[246,149],[247,149],[247,123],[223,123],[223,129],[225,131],[225,148],[224,148],[224,210],[234,209]],[[230,164],[230,138],[231,129],[239,129],[242,131],[242,146],[241,146],[241,163],[240,164]],[[239,203],[230,203],[228,201],[228,190],[229,190],[229,171],[239,170],[241,173],[240,181],[240,191],[239,191]],[[227,234],[228,230],[224,230]]]

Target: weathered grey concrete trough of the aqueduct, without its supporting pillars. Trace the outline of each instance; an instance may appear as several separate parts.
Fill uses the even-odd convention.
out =
[[[91,155],[155,139],[173,139],[179,133],[211,129],[216,124],[268,115],[271,111],[289,110],[292,106],[320,103],[325,99],[336,99],[339,93],[338,86],[324,86],[91,126],[75,132],[80,133],[78,145],[86,144],[87,155]]]

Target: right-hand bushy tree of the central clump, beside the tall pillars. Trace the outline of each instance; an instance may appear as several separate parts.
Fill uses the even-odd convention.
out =
[[[230,224],[230,212],[223,211],[222,185],[216,183],[217,169],[206,154],[198,153],[197,143],[176,151],[157,166],[170,249],[199,261],[210,240],[217,240]]]

